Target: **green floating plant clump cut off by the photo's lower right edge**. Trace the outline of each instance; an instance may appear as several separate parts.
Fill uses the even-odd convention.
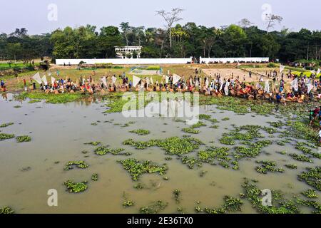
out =
[[[307,185],[315,187],[316,190],[321,191],[321,167],[307,167],[307,171],[301,172],[297,179],[305,181]]]

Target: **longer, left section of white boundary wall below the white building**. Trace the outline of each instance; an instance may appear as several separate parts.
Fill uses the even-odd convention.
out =
[[[56,59],[56,65],[78,65],[81,61],[88,65],[96,63],[111,63],[114,65],[136,65],[136,64],[186,64],[192,62],[190,58],[93,58],[93,59]]]

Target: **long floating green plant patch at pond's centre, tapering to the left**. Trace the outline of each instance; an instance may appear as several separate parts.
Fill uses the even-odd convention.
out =
[[[167,138],[165,140],[149,140],[147,142],[135,142],[132,139],[123,142],[123,145],[132,145],[136,149],[146,149],[147,147],[161,147],[168,155],[184,155],[198,149],[203,145],[198,139],[195,138]]]

